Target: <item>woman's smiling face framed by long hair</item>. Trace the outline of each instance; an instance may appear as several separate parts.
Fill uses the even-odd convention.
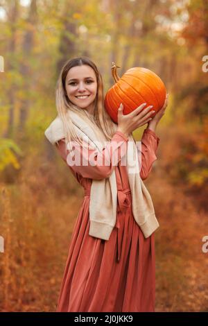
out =
[[[89,114],[93,114],[97,80],[92,67],[82,65],[69,69],[65,88],[71,103],[78,105],[80,109],[87,110]]]

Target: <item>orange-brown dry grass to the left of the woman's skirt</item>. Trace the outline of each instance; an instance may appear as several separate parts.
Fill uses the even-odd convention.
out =
[[[18,186],[0,187],[1,235],[5,239],[5,252],[0,254],[1,311],[55,311],[73,223],[81,205],[79,192],[71,190],[70,196],[59,196],[53,185],[55,171],[42,173],[37,169],[30,174],[28,170],[33,170],[29,166]],[[70,178],[69,182],[73,189],[75,182]]]

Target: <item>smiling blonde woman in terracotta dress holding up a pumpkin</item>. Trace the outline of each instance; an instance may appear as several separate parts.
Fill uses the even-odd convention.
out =
[[[139,178],[144,180],[148,177],[153,162],[157,160],[155,152],[159,138],[155,135],[155,129],[166,109],[167,99],[164,107],[153,119],[152,108],[148,106],[144,109],[146,103],[126,115],[123,114],[121,104],[118,125],[116,125],[105,111],[101,74],[91,60],[81,57],[69,60],[62,67],[56,90],[56,106],[64,132],[56,133],[58,129],[56,127],[55,138],[51,140],[49,127],[45,135],[52,144],[55,144],[63,160],[67,162],[71,172],[85,189],[83,205],[73,227],[57,311],[154,311],[154,232],[151,231],[150,236],[144,237],[135,221],[132,214],[130,179],[127,167],[121,164],[121,160],[127,153],[132,131],[148,123],[141,139]],[[89,147],[84,151],[85,146],[83,147],[83,142],[80,142],[73,128],[76,122],[73,124],[70,116],[67,115],[69,112],[82,118],[81,121],[86,121],[89,131],[93,129],[98,137],[102,134],[109,144],[100,152]],[[81,125],[79,127],[82,129]],[[114,144],[113,151],[110,151],[112,144]],[[116,150],[118,150],[118,157],[113,165],[112,155]],[[71,151],[73,154],[79,153],[87,164],[83,164],[83,160],[79,160],[79,164],[70,164]],[[89,157],[92,155],[95,157],[94,164],[88,164]],[[110,164],[96,164],[107,155]],[[116,198],[118,195],[116,224],[112,229],[106,228],[101,231],[104,226],[102,223],[94,225],[92,216],[89,221],[89,212],[92,213],[90,205],[102,200],[103,203],[100,203],[107,207],[107,202],[105,204],[107,192],[106,198],[105,195],[103,198],[98,198],[96,192],[92,198],[92,185],[96,185],[96,182],[99,184],[103,180],[107,182],[112,178],[113,173],[116,175]],[[97,225],[100,227],[98,228]],[[98,236],[95,236],[96,234]]]

